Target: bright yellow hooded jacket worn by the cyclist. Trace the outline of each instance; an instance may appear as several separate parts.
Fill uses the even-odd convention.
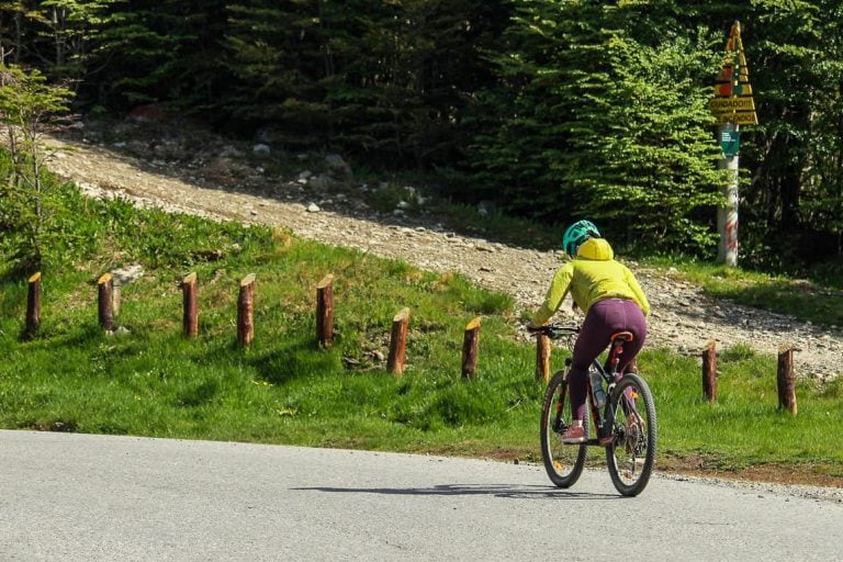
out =
[[[557,271],[544,303],[533,316],[532,324],[540,326],[547,323],[559,310],[569,291],[584,313],[587,313],[594,303],[605,299],[628,299],[638,304],[644,316],[650,314],[650,303],[638,280],[629,268],[615,261],[615,252],[604,238],[585,240],[580,246],[576,258]]]

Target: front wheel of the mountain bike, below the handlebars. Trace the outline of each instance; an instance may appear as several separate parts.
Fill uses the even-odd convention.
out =
[[[559,371],[550,380],[541,407],[541,458],[550,481],[559,487],[572,486],[585,467],[587,447],[565,445],[562,434],[571,425],[571,405],[567,401],[566,372]],[[588,437],[588,424],[585,424]]]

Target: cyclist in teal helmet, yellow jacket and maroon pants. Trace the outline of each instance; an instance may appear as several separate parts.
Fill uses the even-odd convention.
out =
[[[626,330],[631,331],[634,339],[625,346],[618,367],[619,372],[628,369],[644,345],[650,303],[636,277],[614,259],[611,246],[591,221],[578,221],[569,226],[562,248],[572,260],[553,277],[544,302],[528,329],[546,324],[569,292],[574,305],[585,313],[569,373],[573,423],[562,435],[562,442],[581,443],[585,441],[583,418],[588,367],[610,344],[612,334]]]

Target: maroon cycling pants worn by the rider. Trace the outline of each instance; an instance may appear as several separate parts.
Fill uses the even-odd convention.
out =
[[[631,331],[634,339],[623,346],[623,355],[619,366],[620,372],[623,372],[644,345],[644,339],[647,339],[644,313],[634,302],[623,299],[607,299],[588,308],[588,314],[585,315],[585,321],[580,329],[580,336],[574,344],[571,372],[567,378],[571,416],[574,419],[585,417],[585,381],[588,376],[588,367],[611,344],[611,335],[625,330]]]

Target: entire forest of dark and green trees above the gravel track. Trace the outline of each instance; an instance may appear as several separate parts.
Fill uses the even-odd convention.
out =
[[[741,266],[836,285],[840,1],[2,0],[0,57],[87,116],[154,104],[423,172],[499,213],[587,216],[627,251],[710,259],[707,104],[735,20],[760,121],[741,137]]]

